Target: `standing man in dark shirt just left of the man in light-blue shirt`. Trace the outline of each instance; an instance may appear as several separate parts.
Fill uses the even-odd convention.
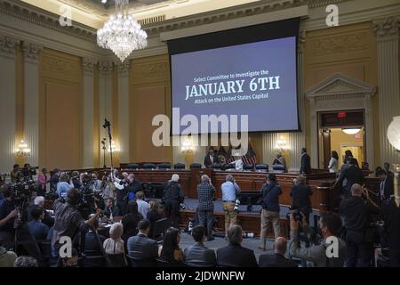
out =
[[[215,187],[208,175],[202,175],[202,183],[197,185],[198,219],[199,223],[207,228],[207,240],[214,240],[212,236],[212,223],[214,219],[213,195]]]

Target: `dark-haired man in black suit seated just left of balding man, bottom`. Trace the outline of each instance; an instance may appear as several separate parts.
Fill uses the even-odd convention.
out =
[[[228,229],[229,244],[217,249],[217,265],[222,267],[257,267],[252,249],[242,247],[243,232],[238,224]]]

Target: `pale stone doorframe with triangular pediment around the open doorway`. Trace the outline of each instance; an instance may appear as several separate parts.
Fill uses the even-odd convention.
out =
[[[318,112],[347,110],[364,110],[366,150],[364,159],[368,161],[370,167],[374,167],[372,96],[375,93],[375,86],[341,73],[336,73],[308,89],[305,96],[310,107],[310,157],[313,168],[321,166],[321,159],[318,159],[318,145],[321,138]]]

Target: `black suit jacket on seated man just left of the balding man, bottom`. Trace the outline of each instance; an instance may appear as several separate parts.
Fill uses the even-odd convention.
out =
[[[229,244],[217,249],[217,265],[227,267],[257,267],[254,252],[240,245]]]

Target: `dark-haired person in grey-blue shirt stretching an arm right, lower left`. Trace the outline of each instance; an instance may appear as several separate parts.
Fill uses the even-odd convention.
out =
[[[52,248],[55,249],[57,255],[62,246],[59,242],[61,237],[68,236],[73,244],[76,245],[78,233],[87,232],[100,215],[100,209],[97,209],[96,215],[86,221],[84,220],[78,208],[82,201],[82,194],[77,189],[68,191],[66,201],[66,203],[63,203],[63,199],[56,199],[53,204],[55,221],[52,233]]]

